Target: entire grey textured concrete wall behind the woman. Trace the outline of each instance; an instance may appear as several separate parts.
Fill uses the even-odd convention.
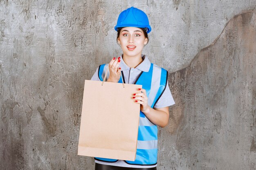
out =
[[[158,169],[255,170],[255,5],[0,0],[0,169],[93,170],[77,155],[84,79],[121,54],[113,27],[135,6],[153,28],[144,53],[171,73],[176,102]]]

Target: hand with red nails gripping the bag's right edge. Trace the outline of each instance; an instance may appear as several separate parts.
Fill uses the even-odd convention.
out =
[[[140,92],[132,94],[132,99],[134,99],[136,103],[140,104],[141,112],[148,113],[150,107],[148,106],[148,97],[146,90],[143,88],[138,88],[138,90],[142,93]]]

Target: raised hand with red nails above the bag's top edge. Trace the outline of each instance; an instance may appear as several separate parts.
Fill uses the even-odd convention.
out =
[[[120,57],[116,59],[116,57],[113,57],[110,63],[108,64],[109,69],[109,77],[107,82],[115,82],[117,83],[121,76],[121,67],[119,67],[120,64]]]

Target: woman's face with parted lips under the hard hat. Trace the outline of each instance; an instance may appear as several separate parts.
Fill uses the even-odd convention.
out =
[[[124,27],[120,31],[117,39],[121,49],[126,56],[141,56],[144,45],[147,44],[148,39],[140,28]]]

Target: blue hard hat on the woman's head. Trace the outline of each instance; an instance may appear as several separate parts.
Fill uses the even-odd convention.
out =
[[[137,27],[146,28],[146,32],[150,33],[151,26],[148,22],[146,13],[135,7],[130,7],[119,14],[115,30],[120,27]]]

